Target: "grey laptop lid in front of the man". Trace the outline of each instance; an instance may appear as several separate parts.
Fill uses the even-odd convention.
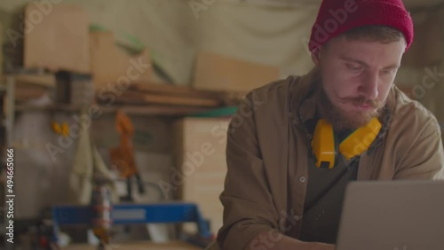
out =
[[[353,182],[337,250],[443,250],[444,181]]]

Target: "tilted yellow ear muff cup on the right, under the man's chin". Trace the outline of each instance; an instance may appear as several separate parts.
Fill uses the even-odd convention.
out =
[[[377,117],[373,118],[365,127],[356,129],[339,145],[339,152],[346,160],[350,160],[362,152],[366,152],[376,139],[382,125]]]

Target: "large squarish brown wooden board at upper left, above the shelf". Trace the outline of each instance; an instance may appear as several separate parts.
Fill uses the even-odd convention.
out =
[[[90,72],[89,21],[81,7],[53,4],[44,13],[36,4],[25,10],[24,66]],[[37,22],[38,20],[38,22]]]

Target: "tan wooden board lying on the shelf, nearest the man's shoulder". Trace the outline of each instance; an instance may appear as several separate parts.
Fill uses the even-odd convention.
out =
[[[208,52],[198,55],[193,86],[198,90],[248,92],[279,79],[279,68]]]

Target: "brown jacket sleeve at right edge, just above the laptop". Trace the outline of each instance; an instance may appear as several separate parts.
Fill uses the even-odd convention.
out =
[[[444,151],[436,119],[424,124],[405,152],[394,179],[444,179]]]

